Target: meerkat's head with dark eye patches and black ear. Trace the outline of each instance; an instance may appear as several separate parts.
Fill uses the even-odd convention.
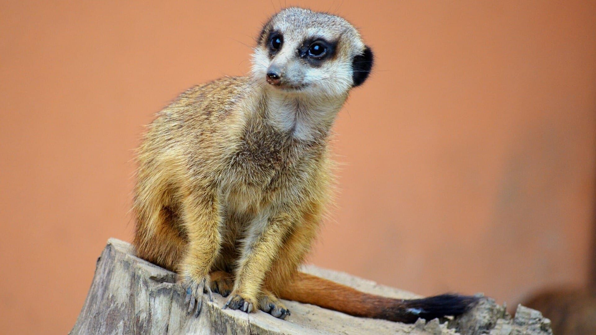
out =
[[[275,92],[345,97],[364,83],[372,67],[373,52],[348,21],[287,8],[263,26],[252,75]]]

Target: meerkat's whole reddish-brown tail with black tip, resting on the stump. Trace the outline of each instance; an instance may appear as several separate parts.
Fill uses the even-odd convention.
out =
[[[314,275],[297,273],[280,297],[333,309],[356,317],[412,323],[418,318],[432,320],[446,315],[460,315],[478,300],[474,296],[441,294],[421,299],[393,299],[364,293]]]

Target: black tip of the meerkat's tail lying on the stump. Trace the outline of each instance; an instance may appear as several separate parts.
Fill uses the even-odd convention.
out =
[[[455,317],[464,314],[476,305],[480,298],[480,296],[447,293],[422,299],[405,300],[404,303],[406,312],[412,316],[412,319],[433,320],[448,315]]]

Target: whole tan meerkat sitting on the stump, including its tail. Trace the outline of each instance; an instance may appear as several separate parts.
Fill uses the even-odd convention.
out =
[[[138,152],[133,244],[178,274],[189,313],[212,292],[228,296],[224,308],[282,319],[280,298],[403,322],[476,301],[390,299],[299,271],[330,198],[331,127],[372,67],[342,17],[287,8],[263,26],[249,75],[195,86],[157,113]]]

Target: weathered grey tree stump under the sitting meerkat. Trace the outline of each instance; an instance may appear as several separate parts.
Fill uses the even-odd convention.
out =
[[[381,286],[341,272],[306,266],[306,272],[383,296],[415,294]],[[111,238],[97,261],[95,277],[71,334],[552,334],[540,312],[521,307],[514,318],[491,299],[449,322],[435,319],[402,324],[357,318],[297,302],[285,302],[291,317],[222,310],[213,294],[198,318],[187,315],[184,294],[173,272],[136,258],[131,246]]]

